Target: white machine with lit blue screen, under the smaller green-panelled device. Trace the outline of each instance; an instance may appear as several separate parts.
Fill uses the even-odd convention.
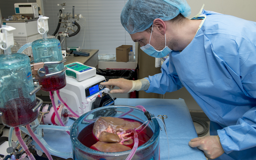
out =
[[[101,82],[106,82],[104,76],[95,75],[83,81],[77,81],[75,78],[66,77],[66,81],[67,85],[60,89],[60,97],[64,101],[67,98],[66,103],[79,116],[94,109],[95,96],[97,96],[100,91],[107,92],[105,89],[106,86],[100,85]],[[54,93],[54,97],[55,104],[58,104],[56,92]]]

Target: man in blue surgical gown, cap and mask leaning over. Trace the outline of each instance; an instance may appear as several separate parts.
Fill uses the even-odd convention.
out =
[[[164,94],[185,87],[211,120],[210,134],[190,147],[209,159],[256,159],[256,22],[201,10],[185,0],[128,0],[121,23],[134,42],[164,57],[162,73],[137,81],[112,79],[110,93]]]

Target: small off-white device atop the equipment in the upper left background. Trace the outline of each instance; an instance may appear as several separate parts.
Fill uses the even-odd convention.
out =
[[[15,14],[33,14],[33,18],[38,18],[38,7],[36,3],[15,3]]]

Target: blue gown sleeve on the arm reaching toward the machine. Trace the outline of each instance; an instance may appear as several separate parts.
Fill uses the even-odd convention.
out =
[[[169,56],[162,64],[161,73],[145,78],[149,82],[149,88],[145,92],[164,94],[165,92],[177,91],[183,87],[170,58]]]

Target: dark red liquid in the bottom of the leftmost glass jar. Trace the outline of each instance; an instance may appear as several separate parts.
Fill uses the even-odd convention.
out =
[[[33,112],[32,108],[36,106],[36,100],[26,97],[14,98],[4,104],[4,108],[0,108],[3,112],[1,116],[3,124],[9,127],[16,127],[33,122],[38,116],[38,112]]]

